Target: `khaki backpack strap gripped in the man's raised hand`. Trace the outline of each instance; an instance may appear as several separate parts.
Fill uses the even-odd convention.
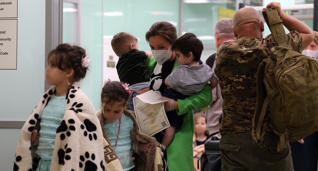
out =
[[[264,8],[263,17],[271,30],[275,42],[280,46],[287,47],[283,21],[280,19],[278,12],[273,8]]]

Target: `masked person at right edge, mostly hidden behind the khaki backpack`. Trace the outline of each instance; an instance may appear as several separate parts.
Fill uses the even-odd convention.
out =
[[[318,60],[318,32],[313,31],[313,41],[303,50],[303,54]],[[318,162],[318,132],[290,143],[295,171],[316,171]]]

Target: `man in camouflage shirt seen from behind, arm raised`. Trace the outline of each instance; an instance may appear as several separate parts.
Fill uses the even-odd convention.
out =
[[[267,7],[277,10],[284,26],[287,45],[301,52],[313,40],[311,29],[303,22],[284,14],[279,3]],[[216,56],[215,73],[223,97],[221,124],[222,170],[293,170],[288,141],[285,150],[277,152],[279,137],[269,130],[264,148],[253,145],[252,119],[256,105],[256,72],[264,58],[269,58],[272,38],[262,39],[263,21],[253,8],[242,8],[233,16],[237,40],[221,45]]]

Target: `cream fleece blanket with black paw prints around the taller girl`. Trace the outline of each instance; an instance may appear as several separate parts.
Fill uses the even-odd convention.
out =
[[[52,87],[44,94],[23,125],[13,170],[36,170],[39,158],[31,134],[38,129],[41,113],[55,90]],[[50,170],[104,170],[103,134],[96,111],[75,84],[66,95],[65,114],[55,140]]]

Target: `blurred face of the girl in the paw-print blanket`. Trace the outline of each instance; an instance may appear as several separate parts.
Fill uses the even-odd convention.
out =
[[[51,86],[66,85],[66,74],[66,71],[62,71],[56,66],[55,61],[49,61],[45,68],[45,81]]]

